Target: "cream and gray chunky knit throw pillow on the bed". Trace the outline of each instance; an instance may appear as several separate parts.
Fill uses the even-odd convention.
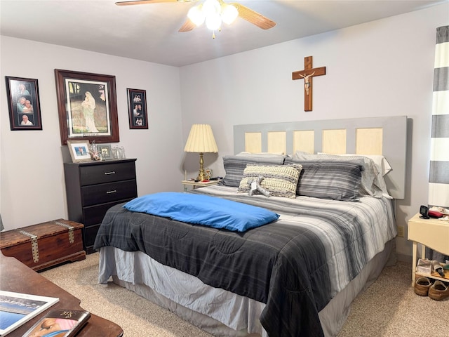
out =
[[[243,171],[238,192],[249,192],[250,181],[262,177],[260,185],[270,196],[295,198],[297,180],[300,177],[301,165],[250,165]]]

